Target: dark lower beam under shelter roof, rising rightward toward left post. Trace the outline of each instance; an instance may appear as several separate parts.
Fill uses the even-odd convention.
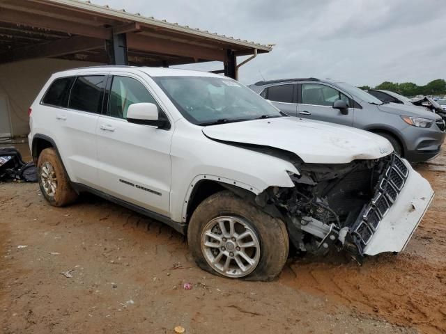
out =
[[[77,52],[105,48],[104,40],[75,36],[29,47],[21,47],[0,54],[0,63],[22,61],[31,58],[47,58],[75,54]]]

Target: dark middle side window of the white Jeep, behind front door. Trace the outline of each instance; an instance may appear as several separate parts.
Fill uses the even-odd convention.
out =
[[[104,95],[105,76],[77,77],[71,88],[68,108],[89,113],[100,113]]]

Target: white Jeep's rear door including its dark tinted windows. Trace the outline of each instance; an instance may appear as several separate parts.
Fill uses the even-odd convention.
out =
[[[95,132],[106,78],[94,74],[56,79],[42,102],[70,179],[93,187],[98,186]]]

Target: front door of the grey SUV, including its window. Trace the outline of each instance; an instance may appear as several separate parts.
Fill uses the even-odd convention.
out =
[[[344,100],[349,106],[348,115],[333,109],[333,103]],[[353,125],[353,100],[336,88],[324,84],[300,84],[298,87],[298,117],[323,120],[341,125]]]

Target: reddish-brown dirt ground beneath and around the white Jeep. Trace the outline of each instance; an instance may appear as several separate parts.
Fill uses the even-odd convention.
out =
[[[201,271],[180,234],[106,200],[0,184],[0,333],[446,333],[446,152],[416,169],[436,198],[404,253],[291,258],[271,283]]]

